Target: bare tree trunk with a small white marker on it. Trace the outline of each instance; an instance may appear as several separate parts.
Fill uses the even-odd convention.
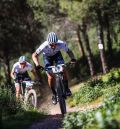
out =
[[[105,58],[105,52],[104,52],[104,38],[103,38],[103,23],[102,23],[102,16],[101,16],[101,11],[97,10],[97,16],[98,16],[98,26],[97,26],[97,31],[98,31],[98,44],[103,46],[103,48],[99,48],[100,50],[100,58],[102,62],[102,69],[103,73],[108,72],[108,66],[106,63],[106,58]]]

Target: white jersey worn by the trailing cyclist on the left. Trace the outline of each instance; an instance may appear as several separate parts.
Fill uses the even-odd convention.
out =
[[[26,71],[31,71],[33,69],[32,65],[30,63],[26,63],[26,66],[24,68],[21,68],[21,65],[19,62],[16,62],[13,65],[12,72],[14,73],[25,73]]]

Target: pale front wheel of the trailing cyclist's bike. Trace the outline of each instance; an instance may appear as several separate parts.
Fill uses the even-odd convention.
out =
[[[32,101],[30,100],[30,97],[32,97]],[[37,95],[34,89],[29,90],[26,94],[25,103],[28,104],[30,108],[35,109],[37,107]]]

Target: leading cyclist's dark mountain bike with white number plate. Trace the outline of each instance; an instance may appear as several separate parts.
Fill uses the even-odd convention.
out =
[[[66,110],[66,90],[64,86],[64,75],[63,75],[63,67],[65,64],[59,64],[55,66],[49,66],[46,68],[46,71],[52,72],[55,75],[55,89],[58,97],[58,102],[60,106],[61,113],[64,115]]]

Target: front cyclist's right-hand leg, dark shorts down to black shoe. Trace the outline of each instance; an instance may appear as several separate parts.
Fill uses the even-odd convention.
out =
[[[63,59],[63,57],[62,57],[61,52],[58,52],[58,53],[55,55],[54,58],[55,58],[56,64],[64,64],[64,59]],[[65,86],[66,95],[67,95],[67,96],[71,96],[72,93],[71,93],[71,91],[70,91],[70,89],[69,89],[69,86],[68,86],[68,74],[67,74],[67,70],[64,68],[63,72],[64,72],[64,82],[63,82],[63,83],[64,83],[64,86]]]

